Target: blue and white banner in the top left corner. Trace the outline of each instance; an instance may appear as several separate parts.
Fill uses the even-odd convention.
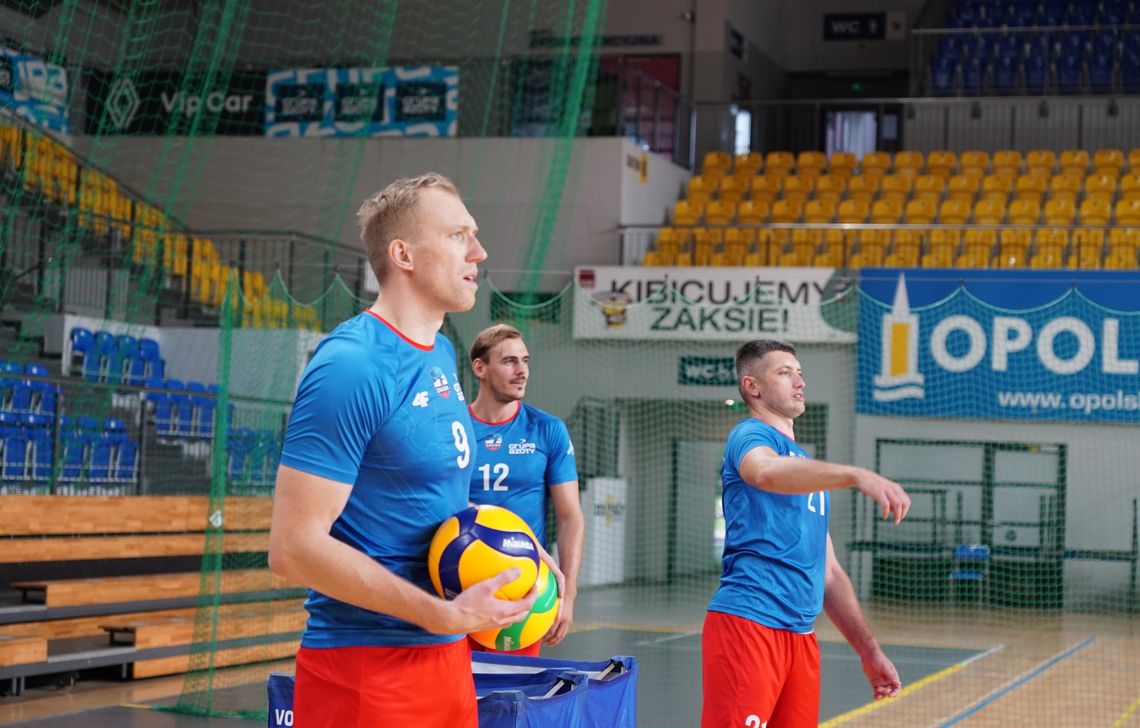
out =
[[[71,133],[67,69],[0,46],[0,106],[38,126]]]

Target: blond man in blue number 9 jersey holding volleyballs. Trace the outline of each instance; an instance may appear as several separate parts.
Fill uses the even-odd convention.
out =
[[[294,721],[464,726],[478,711],[466,632],[522,619],[508,570],[438,598],[427,546],[467,505],[474,433],[443,316],[474,305],[487,252],[447,178],[401,179],[359,213],[376,302],[306,367],[285,433],[269,565],[309,587]]]

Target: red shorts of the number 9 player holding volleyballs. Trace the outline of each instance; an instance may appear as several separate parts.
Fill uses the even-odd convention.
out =
[[[478,728],[465,640],[415,647],[302,647],[293,722],[304,728]]]

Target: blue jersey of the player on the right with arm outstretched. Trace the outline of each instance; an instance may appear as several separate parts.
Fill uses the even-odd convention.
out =
[[[746,483],[740,461],[759,447],[782,457],[808,457],[793,440],[755,418],[728,434],[720,469],[724,559],[709,610],[807,633],[823,608],[830,497],[826,491],[784,496]]]

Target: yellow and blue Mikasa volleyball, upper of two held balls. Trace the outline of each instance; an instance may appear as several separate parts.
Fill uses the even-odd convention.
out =
[[[427,573],[445,599],[507,569],[518,569],[519,578],[495,595],[521,599],[535,586],[540,563],[530,526],[499,506],[471,506],[455,514],[435,530],[427,549]]]

